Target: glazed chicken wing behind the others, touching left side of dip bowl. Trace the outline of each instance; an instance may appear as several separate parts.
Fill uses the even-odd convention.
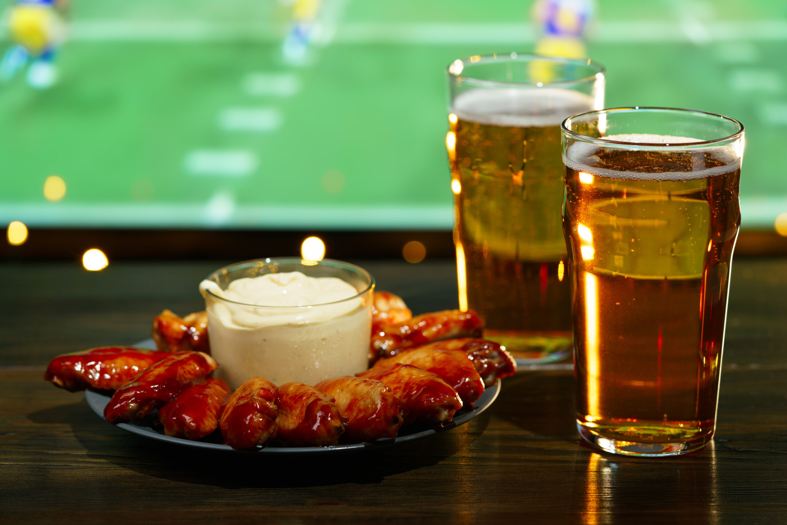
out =
[[[161,352],[196,350],[210,353],[208,314],[194,312],[183,317],[164,310],[153,319],[153,340]]]

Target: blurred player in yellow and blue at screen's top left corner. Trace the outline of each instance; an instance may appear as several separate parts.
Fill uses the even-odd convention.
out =
[[[66,0],[14,2],[6,19],[13,44],[0,61],[0,79],[9,81],[30,63],[27,80],[31,87],[46,89],[57,81],[54,56],[65,39],[65,4]]]

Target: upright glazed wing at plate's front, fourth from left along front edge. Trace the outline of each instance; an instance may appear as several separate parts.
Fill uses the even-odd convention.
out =
[[[224,445],[240,450],[253,449],[275,437],[278,395],[276,386],[261,377],[253,377],[238,386],[219,421]]]

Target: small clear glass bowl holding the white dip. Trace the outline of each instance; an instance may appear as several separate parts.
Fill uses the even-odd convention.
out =
[[[255,376],[276,385],[314,385],[366,370],[375,279],[363,268],[330,259],[268,258],[231,264],[205,280],[227,290],[236,279],[283,272],[335,277],[358,293],[317,305],[267,306],[231,301],[201,285],[216,375],[235,389]]]

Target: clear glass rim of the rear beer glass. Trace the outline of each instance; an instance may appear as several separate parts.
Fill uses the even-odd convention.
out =
[[[512,57],[512,55],[515,55]],[[475,60],[474,60],[475,59]],[[548,82],[548,83],[540,83],[540,82],[501,82],[500,80],[484,80],[478,79],[474,76],[462,75],[464,72],[464,66],[467,64],[476,65],[482,64],[484,62],[526,62],[526,61],[535,61],[535,60],[545,60],[551,61],[556,64],[569,64],[569,65],[586,65],[596,68],[597,71],[593,73],[593,75],[589,76],[582,76],[577,79],[571,80],[559,80],[557,82]],[[457,62],[462,63],[462,71],[455,73],[451,71],[451,67],[456,64]],[[457,58],[455,61],[452,61],[446,68],[445,73],[451,76],[453,79],[460,79],[464,78],[465,80],[470,80],[472,83],[478,84],[478,86],[482,87],[551,87],[551,86],[565,86],[570,84],[578,84],[578,83],[589,83],[593,82],[598,79],[598,76],[605,76],[607,73],[607,69],[604,68],[603,65],[600,65],[597,61],[593,61],[589,58],[565,58],[565,57],[551,57],[549,55],[544,54],[535,54],[535,53],[516,53],[512,52],[510,54],[505,53],[493,53],[493,54],[483,54],[483,55],[472,55],[470,57],[464,58]]]

